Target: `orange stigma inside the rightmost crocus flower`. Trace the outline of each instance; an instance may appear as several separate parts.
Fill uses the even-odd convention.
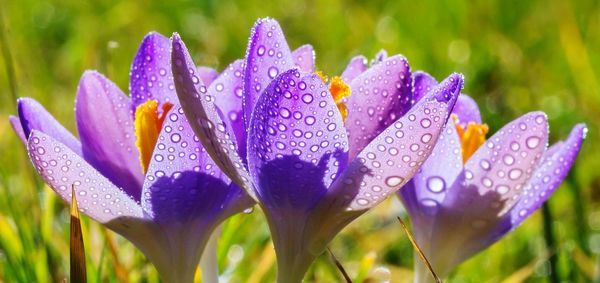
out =
[[[464,164],[485,143],[485,135],[488,133],[489,128],[487,124],[477,124],[474,122],[469,122],[467,127],[463,127],[458,123],[458,116],[452,114],[451,117],[454,124],[456,124]]]

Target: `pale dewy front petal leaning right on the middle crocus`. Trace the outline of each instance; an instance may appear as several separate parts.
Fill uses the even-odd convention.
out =
[[[402,187],[425,162],[463,86],[453,74],[377,136],[336,181],[349,210],[371,208]]]

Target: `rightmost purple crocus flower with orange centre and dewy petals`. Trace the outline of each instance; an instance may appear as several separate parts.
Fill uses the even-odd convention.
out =
[[[459,96],[433,153],[399,192],[433,269],[447,275],[535,212],[566,177],[586,131],[576,125],[567,140],[547,148],[546,115],[531,112],[486,141],[477,104]],[[415,262],[415,282],[433,282]]]

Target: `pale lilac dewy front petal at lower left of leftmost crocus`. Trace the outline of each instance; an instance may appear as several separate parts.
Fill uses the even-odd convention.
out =
[[[68,203],[74,186],[79,209],[94,220],[107,223],[121,217],[143,218],[135,200],[58,140],[33,130],[28,149],[44,181]]]

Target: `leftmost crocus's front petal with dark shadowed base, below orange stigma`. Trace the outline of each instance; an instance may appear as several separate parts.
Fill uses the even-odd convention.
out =
[[[144,181],[142,206],[150,217],[164,224],[208,222],[247,208],[250,199],[210,159],[183,109],[175,106],[166,117]]]

